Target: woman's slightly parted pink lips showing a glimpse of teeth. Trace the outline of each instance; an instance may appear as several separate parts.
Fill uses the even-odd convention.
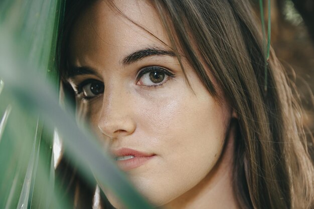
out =
[[[115,157],[117,165],[124,171],[137,168],[155,156],[152,153],[144,153],[129,148],[121,148],[111,152]]]

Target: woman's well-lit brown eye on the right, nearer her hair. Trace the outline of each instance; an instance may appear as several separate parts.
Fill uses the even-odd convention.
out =
[[[138,82],[136,84],[147,87],[157,87],[163,85],[170,78],[174,77],[175,75],[165,68],[159,66],[150,66],[141,69],[141,71],[138,73]]]

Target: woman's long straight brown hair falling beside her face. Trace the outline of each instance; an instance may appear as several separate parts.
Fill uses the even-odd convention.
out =
[[[294,84],[272,50],[265,62],[260,27],[249,2],[154,0],[151,4],[179,60],[178,49],[219,99],[208,77],[212,74],[238,115],[233,188],[240,207],[314,208],[313,139],[305,136]],[[70,18],[67,30],[75,20]],[[68,34],[63,31],[60,42],[63,73]]]

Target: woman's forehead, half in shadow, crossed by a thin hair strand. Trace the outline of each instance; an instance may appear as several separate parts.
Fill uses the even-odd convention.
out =
[[[79,14],[70,34],[70,61],[105,55],[111,61],[134,50],[170,45],[155,9],[146,1],[96,1]],[[104,58],[102,58],[104,59]]]

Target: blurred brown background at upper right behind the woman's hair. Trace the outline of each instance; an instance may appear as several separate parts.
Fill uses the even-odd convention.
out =
[[[251,2],[260,17],[258,1]],[[267,13],[264,1],[266,28]],[[305,111],[304,124],[314,133],[314,0],[271,0],[271,45],[296,83]]]

